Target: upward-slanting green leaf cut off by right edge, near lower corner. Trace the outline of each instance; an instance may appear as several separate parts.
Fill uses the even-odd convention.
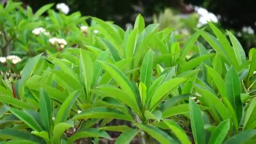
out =
[[[247,130],[249,126],[256,120],[256,98],[253,98],[245,112],[245,119],[243,121],[243,130]]]

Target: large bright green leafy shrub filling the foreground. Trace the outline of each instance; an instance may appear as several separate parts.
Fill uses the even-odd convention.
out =
[[[48,13],[52,20],[45,21],[53,23],[70,18],[65,10]],[[32,57],[19,75],[1,74],[1,142],[256,142],[255,48],[247,59],[236,37],[228,31],[227,37],[210,22],[214,35],[197,29],[180,45],[173,29],[145,26],[141,15],[133,29],[126,30],[92,19],[92,27],[69,26],[83,34],[79,40],[65,24],[53,24],[59,27],[54,32],[50,27],[30,31],[34,37],[48,31],[54,34],[46,41],[57,52],[47,49],[47,55]],[[62,34],[68,35],[66,39]],[[70,46],[80,43],[80,48]],[[13,59],[9,61],[18,61]],[[109,125],[112,120],[131,125]],[[116,139],[109,131],[121,134]]]

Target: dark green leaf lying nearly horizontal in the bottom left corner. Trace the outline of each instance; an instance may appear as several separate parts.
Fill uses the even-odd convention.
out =
[[[35,136],[27,131],[19,131],[13,128],[0,129],[0,137],[4,139],[26,139],[28,141],[33,141],[37,144],[46,144],[45,141],[39,136]]]

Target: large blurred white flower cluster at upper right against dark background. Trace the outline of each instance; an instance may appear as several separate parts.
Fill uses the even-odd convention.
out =
[[[218,22],[217,16],[208,12],[205,8],[195,6],[195,11],[199,14],[197,27],[202,27],[204,24],[207,24],[207,21]]]

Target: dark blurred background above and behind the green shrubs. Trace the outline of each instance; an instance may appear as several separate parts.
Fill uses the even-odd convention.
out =
[[[6,0],[2,0],[6,1]],[[255,0],[16,0],[22,1],[24,7],[29,5],[33,11],[48,3],[66,3],[69,5],[70,13],[80,11],[84,16],[96,16],[103,20],[115,21],[115,24],[125,28],[133,24],[138,13],[144,16],[146,24],[152,23],[160,13],[169,14],[165,19],[176,17],[176,14],[194,13],[189,5],[197,5],[207,9],[209,12],[219,16],[219,28],[229,29],[242,43],[246,53],[256,45],[256,37],[246,31],[244,27],[256,30],[256,17],[254,7]],[[165,8],[172,8],[168,12]],[[155,15],[155,16],[153,16]],[[160,17],[159,17],[160,18]],[[163,18],[160,18],[160,20]],[[184,27],[176,19],[170,21],[171,27]],[[162,20],[169,21],[169,20]],[[159,21],[158,21],[159,22]],[[193,28],[194,21],[187,23],[187,30]],[[166,23],[163,27],[166,27]],[[187,26],[187,25],[185,25]],[[254,32],[253,32],[254,34]]]

